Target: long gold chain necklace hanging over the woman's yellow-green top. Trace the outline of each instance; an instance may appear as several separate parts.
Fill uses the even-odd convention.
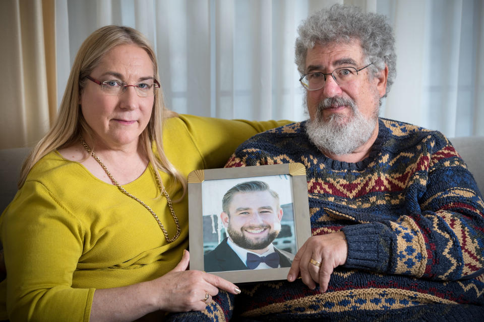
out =
[[[155,218],[155,220],[158,222],[158,225],[160,226],[161,231],[163,231],[163,234],[165,235],[166,241],[168,241],[168,243],[171,243],[172,241],[176,240],[176,238],[178,238],[178,236],[180,235],[180,231],[181,231],[180,224],[178,222],[178,218],[176,218],[175,211],[173,210],[173,206],[171,204],[170,196],[166,192],[165,187],[161,184],[160,178],[155,174],[156,182],[158,184],[158,189],[160,189],[161,194],[165,196],[166,201],[168,202],[168,207],[170,208],[171,216],[173,217],[173,221],[176,224],[176,233],[175,233],[175,235],[172,238],[169,238],[168,237],[168,232],[166,231],[165,227],[161,223],[161,221],[158,218],[158,216],[156,215],[156,213],[153,210],[151,210],[151,208],[147,204],[145,204],[143,201],[141,201],[140,199],[138,199],[135,196],[133,196],[131,193],[129,193],[128,191],[126,191],[125,188],[123,188],[121,185],[119,185],[117,183],[117,181],[114,179],[114,177],[111,175],[111,173],[107,170],[106,166],[101,162],[101,159],[96,154],[94,154],[94,152],[91,150],[91,148],[89,147],[89,145],[87,145],[87,143],[84,142],[84,140],[82,139],[82,137],[80,138],[80,140],[81,140],[81,145],[86,149],[86,151],[88,153],[91,154],[91,156],[101,166],[102,170],[104,170],[104,172],[109,177],[109,179],[111,179],[112,184],[115,185],[117,187],[117,189],[119,189],[120,192],[122,192],[125,195],[127,195],[128,197],[130,197],[130,198],[138,201],[143,207],[145,207],[151,213],[151,215],[153,216],[153,218]]]

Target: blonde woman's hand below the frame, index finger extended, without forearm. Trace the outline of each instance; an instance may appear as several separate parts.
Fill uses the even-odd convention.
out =
[[[203,311],[219,288],[232,294],[240,293],[235,284],[221,277],[202,271],[187,271],[189,262],[190,254],[184,251],[173,270],[153,281],[158,288],[159,309],[171,312]]]

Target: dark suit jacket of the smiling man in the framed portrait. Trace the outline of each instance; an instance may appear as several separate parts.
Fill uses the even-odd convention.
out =
[[[248,270],[246,264],[240,260],[237,254],[228,246],[227,239],[222,242],[211,252],[203,256],[205,272],[224,272],[224,271],[241,271]],[[288,252],[274,250],[279,253],[280,267],[290,267],[294,255]]]

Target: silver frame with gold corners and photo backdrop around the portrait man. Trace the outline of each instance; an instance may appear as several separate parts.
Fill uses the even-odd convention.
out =
[[[304,165],[290,163],[196,170],[188,176],[190,269],[205,271],[204,254],[220,242],[223,227],[221,227],[220,219],[217,217],[220,214],[217,214],[219,210],[214,209],[216,207],[222,208],[221,195],[227,190],[224,187],[231,187],[233,184],[252,180],[276,182],[273,185],[279,190],[279,194],[287,196],[286,199],[290,199],[290,202],[286,202],[284,205],[287,208],[284,213],[292,212],[292,214],[287,215],[287,220],[283,221],[287,224],[281,225],[281,228],[287,226],[286,232],[283,237],[280,237],[281,241],[276,238],[273,244],[278,242],[279,245],[276,245],[278,248],[285,246],[289,253],[295,255],[297,250],[311,237],[308,186]],[[207,213],[204,214],[204,209],[207,209],[207,207],[209,210],[205,210]],[[210,207],[213,207],[213,209]],[[290,216],[292,216],[292,219]],[[282,245],[282,243],[287,244]],[[232,283],[258,282],[286,279],[289,267],[207,272]]]

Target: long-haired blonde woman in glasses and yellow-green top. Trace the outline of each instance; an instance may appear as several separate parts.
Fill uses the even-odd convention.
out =
[[[79,49],[58,119],[0,218],[3,318],[134,320],[203,310],[219,288],[240,292],[186,270],[185,178],[279,124],[176,116],[162,140],[157,78],[155,53],[134,29],[100,28]]]

